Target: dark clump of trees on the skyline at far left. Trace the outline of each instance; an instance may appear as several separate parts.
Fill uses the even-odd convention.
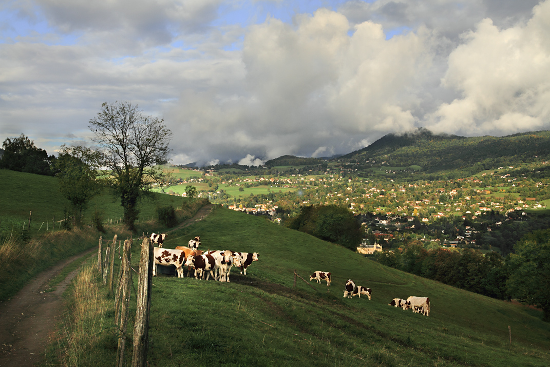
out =
[[[0,169],[53,176],[51,164],[55,157],[48,157],[45,150],[37,148],[34,141],[24,134],[12,139],[7,138],[2,147],[4,153],[0,158]]]

